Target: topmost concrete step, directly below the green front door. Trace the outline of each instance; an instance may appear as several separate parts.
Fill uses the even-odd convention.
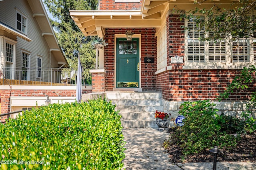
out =
[[[107,99],[160,99],[159,92],[106,92]]]

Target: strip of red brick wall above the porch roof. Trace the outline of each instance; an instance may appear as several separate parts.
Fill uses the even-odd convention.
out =
[[[140,3],[115,3],[115,0],[99,0],[100,10],[140,10],[142,0]]]

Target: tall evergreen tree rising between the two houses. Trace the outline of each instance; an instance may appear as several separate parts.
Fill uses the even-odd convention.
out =
[[[44,4],[55,18],[50,21],[70,67],[77,67],[79,52],[83,68],[92,68],[95,64],[95,50],[89,43],[92,37],[82,34],[69,11],[97,10],[98,0],[44,0]]]

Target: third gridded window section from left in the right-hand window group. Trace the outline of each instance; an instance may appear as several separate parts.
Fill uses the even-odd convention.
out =
[[[232,61],[233,62],[248,62],[250,61],[250,49],[248,39],[238,39],[233,41]]]

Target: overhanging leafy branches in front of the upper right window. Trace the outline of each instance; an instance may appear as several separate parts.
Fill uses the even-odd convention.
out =
[[[194,1],[195,4],[203,2],[204,0]],[[180,19],[188,19],[195,15],[205,16],[206,20],[196,20],[198,30],[211,32],[202,40],[216,41],[226,40],[230,35],[233,40],[252,37],[256,30],[255,9],[255,0],[239,0],[232,2],[228,8],[223,8],[223,4],[213,3],[210,8],[194,8],[187,13],[175,8],[174,12],[180,14]]]

